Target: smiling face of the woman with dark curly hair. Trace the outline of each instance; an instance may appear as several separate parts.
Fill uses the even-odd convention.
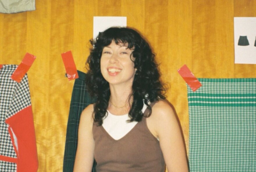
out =
[[[127,43],[116,44],[115,41],[112,41],[102,50],[100,70],[109,84],[132,85],[133,83],[135,75],[134,62],[132,61],[134,57],[131,55],[133,50],[127,46]]]

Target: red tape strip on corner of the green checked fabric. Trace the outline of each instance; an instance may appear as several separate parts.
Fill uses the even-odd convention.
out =
[[[180,69],[178,69],[181,77],[186,81],[192,91],[197,90],[202,84],[199,82],[197,78],[193,75],[193,73],[189,70],[189,68],[184,64]]]

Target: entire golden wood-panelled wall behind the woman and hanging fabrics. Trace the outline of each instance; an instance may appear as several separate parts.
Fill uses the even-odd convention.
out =
[[[38,171],[62,171],[65,134],[74,81],[68,81],[61,53],[71,50],[86,71],[93,16],[127,16],[156,53],[189,143],[186,84],[177,73],[186,64],[198,78],[249,78],[255,64],[234,64],[233,17],[256,17],[256,0],[37,0],[36,10],[0,14],[0,64],[37,56],[28,72],[37,138]]]

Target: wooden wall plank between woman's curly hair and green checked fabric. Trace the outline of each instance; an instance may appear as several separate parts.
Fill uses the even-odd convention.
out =
[[[192,66],[192,1],[169,1],[168,3],[168,55],[163,78],[168,81],[168,100],[174,105],[186,141],[188,151],[189,116],[186,84],[177,70],[184,64]],[[160,66],[161,67],[161,66]],[[182,94],[177,94],[182,93]]]

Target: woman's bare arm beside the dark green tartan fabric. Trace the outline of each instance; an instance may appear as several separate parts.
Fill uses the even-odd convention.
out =
[[[94,160],[93,104],[81,114],[74,172],[91,172]]]

